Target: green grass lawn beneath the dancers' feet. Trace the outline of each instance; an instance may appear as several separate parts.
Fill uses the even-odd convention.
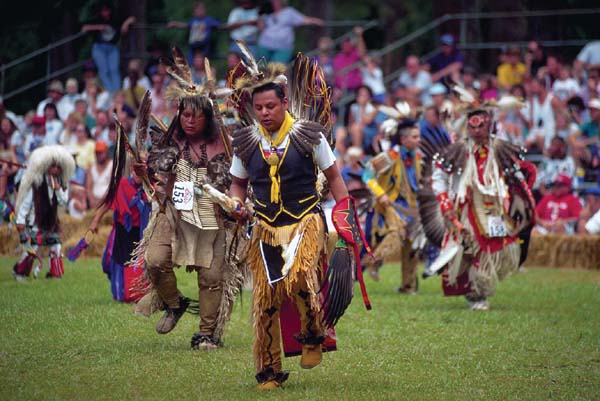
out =
[[[394,292],[399,267],[367,285],[337,327],[339,351],[283,389],[254,390],[251,296],[238,299],[215,352],[191,351],[197,317],[170,334],[112,301],[97,259],[66,261],[62,280],[11,276],[0,258],[0,400],[593,400],[600,399],[600,272],[528,269],[489,312],[445,298],[440,278]],[[47,267],[46,267],[47,269]],[[178,272],[196,298],[195,277]]]

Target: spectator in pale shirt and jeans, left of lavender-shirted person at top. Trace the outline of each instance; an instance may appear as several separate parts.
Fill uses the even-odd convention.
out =
[[[236,40],[243,40],[253,55],[256,54],[258,41],[258,8],[254,0],[238,0],[238,6],[229,12],[227,17],[227,28],[231,29],[229,34],[231,44],[229,50],[237,52],[239,48]]]

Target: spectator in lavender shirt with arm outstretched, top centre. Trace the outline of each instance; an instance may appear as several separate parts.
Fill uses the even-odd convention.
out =
[[[294,28],[301,25],[323,26],[320,18],[307,17],[293,7],[287,6],[287,0],[271,0],[273,12],[263,16],[258,27],[257,55],[267,61],[288,63],[294,50]]]

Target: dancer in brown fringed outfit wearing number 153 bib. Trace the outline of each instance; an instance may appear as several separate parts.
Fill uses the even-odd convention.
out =
[[[222,343],[224,325],[243,276],[237,265],[225,258],[234,221],[198,188],[205,184],[220,190],[229,187],[229,137],[220,122],[216,97],[221,91],[214,77],[208,77],[204,85],[194,83],[185,57],[177,48],[173,49],[173,61],[163,62],[168,63],[167,72],[174,81],[166,98],[177,102],[177,114],[169,127],[155,119],[152,147],[146,152],[146,107],[140,113],[144,123],[136,130],[136,148],[131,149],[134,171],[143,178],[147,192],[158,205],[130,262],[136,265],[143,261],[151,283],[150,292],[138,302],[136,311],[149,315],[164,309],[156,331],[169,333],[186,310],[195,309],[194,303],[178,290],[173,269],[185,266],[188,271],[196,271],[200,324],[191,346],[212,350]],[[206,62],[206,71],[211,71]],[[118,148],[126,147],[130,148],[128,144]],[[115,178],[118,176],[115,174]],[[111,193],[116,189],[109,189],[107,198]]]

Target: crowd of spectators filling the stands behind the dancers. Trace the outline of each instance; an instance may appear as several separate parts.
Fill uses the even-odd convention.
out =
[[[225,29],[231,39],[226,70],[213,71],[224,83],[242,59],[236,39],[245,40],[250,50],[266,61],[289,62],[294,28],[323,25],[322,20],[301,14],[284,0],[272,0],[271,5],[264,14],[254,1],[240,0],[228,21],[221,23],[198,3],[188,22],[170,21],[169,27],[190,31],[187,54],[194,79],[206,80],[204,58],[214,51],[211,32]],[[157,51],[147,60],[127,60],[124,78],[121,71],[113,74],[112,66],[108,68],[100,60],[106,57],[102,52],[114,51],[117,40],[115,36],[109,38],[107,30],[118,37],[126,33],[132,20],[116,20],[105,9],[100,10],[99,18],[112,22],[91,21],[84,26],[84,30],[95,32],[96,42],[104,42],[94,43],[94,63],[88,64],[81,76],[49,82],[47,97],[22,116],[11,113],[0,101],[0,159],[11,162],[0,163],[3,174],[10,177],[0,186],[0,196],[18,184],[20,165],[26,165],[36,147],[62,144],[77,163],[69,212],[81,216],[97,206],[108,185],[116,138],[113,112],[132,135],[137,108],[149,90],[155,116],[168,123],[175,114],[176,105],[163,96],[170,78],[157,60],[164,55]],[[273,38],[278,39],[276,47]],[[399,77],[386,84],[379,60],[369,54],[376,49],[367,49],[360,27],[346,35],[338,48],[329,37],[319,39],[314,58],[332,88],[335,151],[349,186],[361,188],[361,163],[385,150],[386,138],[380,127],[386,116],[378,105],[402,102],[410,106],[410,117],[418,120],[421,130],[441,130],[456,138],[459,133],[453,121],[458,117],[459,100],[450,85],[458,83],[482,100],[514,96],[522,101],[522,107],[497,110],[495,129],[499,137],[527,148],[538,166],[538,212],[548,216],[548,220],[540,221],[538,231],[562,227],[561,232],[581,232],[577,223],[586,213],[591,217],[589,202],[595,199],[587,199],[583,190],[591,188],[593,192],[600,182],[600,42],[585,46],[575,60],[565,60],[531,41],[525,49],[503,51],[494,71],[479,71],[468,65],[450,34],[442,35],[439,45],[439,52],[429,59],[407,55]],[[339,100],[348,95],[355,100],[345,107]],[[338,118],[342,115],[345,118]],[[565,193],[573,192],[574,199],[560,201]],[[572,213],[564,213],[565,207]]]

